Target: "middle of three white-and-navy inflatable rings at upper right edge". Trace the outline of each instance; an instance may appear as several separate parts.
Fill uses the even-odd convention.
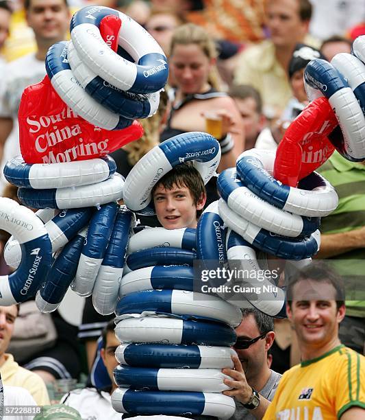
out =
[[[340,53],[332,58],[331,65],[347,79],[365,113],[365,64],[352,54]]]

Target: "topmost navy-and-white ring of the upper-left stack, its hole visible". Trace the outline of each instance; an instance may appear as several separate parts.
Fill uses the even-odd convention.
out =
[[[101,37],[99,25],[105,16],[122,21],[120,45],[136,62],[118,56]],[[73,15],[71,39],[80,58],[92,71],[122,91],[151,93],[164,87],[167,58],[153,37],[129,16],[103,6],[86,6]]]

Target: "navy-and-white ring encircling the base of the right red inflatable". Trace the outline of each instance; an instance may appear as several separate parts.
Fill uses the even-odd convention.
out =
[[[273,178],[275,152],[251,149],[237,159],[237,172],[243,185],[262,200],[290,213],[309,217],[329,215],[338,205],[338,196],[332,185],[313,172],[299,183],[299,188],[288,187]]]

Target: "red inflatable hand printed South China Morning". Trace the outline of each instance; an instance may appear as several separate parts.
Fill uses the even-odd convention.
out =
[[[23,92],[18,121],[21,154],[26,163],[93,159],[143,134],[138,121],[123,130],[108,131],[78,117],[60,99],[47,75]]]

